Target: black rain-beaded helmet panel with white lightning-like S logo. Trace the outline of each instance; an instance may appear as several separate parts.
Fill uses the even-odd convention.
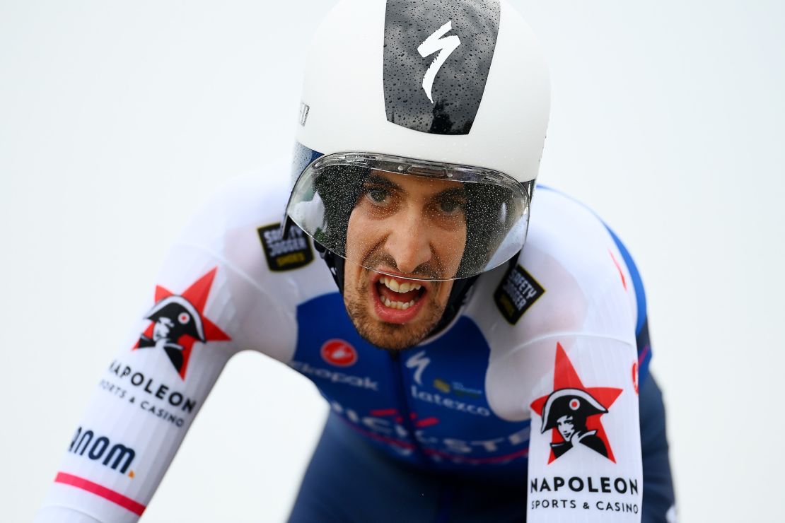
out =
[[[498,0],[388,0],[384,86],[389,122],[469,134],[498,35]]]

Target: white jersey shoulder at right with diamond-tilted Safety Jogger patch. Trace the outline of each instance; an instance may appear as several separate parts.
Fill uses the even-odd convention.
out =
[[[631,281],[603,221],[541,187],[520,256],[483,274],[467,305],[491,347],[486,383],[494,412],[529,416],[521,398],[553,380],[558,347],[590,369],[628,369],[637,319]]]

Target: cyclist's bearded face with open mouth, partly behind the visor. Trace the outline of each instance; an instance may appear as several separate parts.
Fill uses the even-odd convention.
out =
[[[458,271],[465,208],[462,183],[371,172],[346,234],[346,258],[361,265],[345,265],[344,303],[360,336],[403,349],[433,329],[452,289],[434,280]]]

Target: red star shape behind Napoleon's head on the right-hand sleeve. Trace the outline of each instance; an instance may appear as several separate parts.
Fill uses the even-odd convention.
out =
[[[584,387],[583,383],[578,376],[578,372],[575,372],[575,367],[572,366],[572,362],[570,358],[567,357],[567,353],[564,352],[564,348],[561,347],[561,343],[556,344],[556,365],[555,369],[553,370],[553,391],[561,390],[561,389],[579,389],[585,391],[587,394],[597,400],[606,410],[611,408],[611,405],[616,401],[616,398],[619,398],[619,394],[622,394],[622,389],[615,389],[611,387]],[[537,414],[542,418],[542,409],[545,408],[546,401],[548,400],[550,394],[546,394],[542,396],[542,398],[537,398],[535,401],[531,402],[531,409],[537,412]],[[586,418],[586,429],[587,430],[597,430],[597,438],[600,438],[601,441],[605,445],[605,449],[608,450],[608,459],[610,459],[613,463],[616,463],[616,459],[613,456],[613,450],[611,449],[611,445],[608,442],[608,434],[605,434],[605,429],[602,426],[601,421],[602,414],[594,414],[593,416],[588,416]],[[542,420],[542,423],[546,423],[545,420]],[[563,441],[559,431],[557,429],[551,430],[551,434],[553,438],[551,441],[553,443],[559,443]],[[553,460],[556,459],[556,455],[553,453],[553,449],[550,451],[550,458],[548,459],[548,463],[553,463]]]

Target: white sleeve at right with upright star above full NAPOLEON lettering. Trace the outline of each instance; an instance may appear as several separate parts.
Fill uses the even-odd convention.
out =
[[[635,347],[564,333],[524,350],[547,362],[529,404],[527,521],[640,521]]]

